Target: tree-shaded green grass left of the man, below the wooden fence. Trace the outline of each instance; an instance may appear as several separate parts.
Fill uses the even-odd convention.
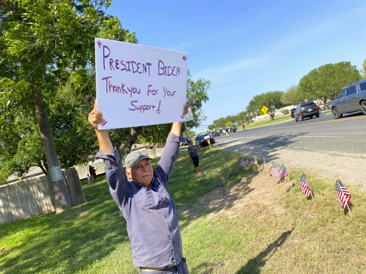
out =
[[[18,246],[1,254],[1,273],[76,273],[128,241],[125,221],[105,179],[87,188],[87,203],[9,224],[18,231],[32,231],[22,236]]]

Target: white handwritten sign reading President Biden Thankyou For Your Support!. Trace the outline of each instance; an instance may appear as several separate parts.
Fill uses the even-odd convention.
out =
[[[184,121],[187,53],[96,38],[98,129]]]

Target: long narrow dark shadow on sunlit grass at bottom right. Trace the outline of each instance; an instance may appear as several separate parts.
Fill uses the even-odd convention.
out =
[[[244,265],[236,274],[259,274],[261,273],[261,268],[265,266],[266,261],[276,252],[276,248],[281,247],[287,240],[287,238],[293,232],[288,230],[283,232],[276,240],[274,240],[266,250],[259,253],[255,258],[250,259],[246,265]]]

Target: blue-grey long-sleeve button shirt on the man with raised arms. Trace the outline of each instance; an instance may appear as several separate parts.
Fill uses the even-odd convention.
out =
[[[109,191],[127,221],[134,266],[163,267],[175,264],[182,254],[178,216],[167,184],[183,139],[169,134],[150,188],[126,177],[117,149],[97,154],[104,160]]]

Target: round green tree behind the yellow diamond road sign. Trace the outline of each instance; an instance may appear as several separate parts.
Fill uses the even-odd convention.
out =
[[[250,114],[257,109],[260,110],[263,106],[266,106],[268,108],[267,113],[271,117],[271,120],[273,120],[276,112],[285,106],[281,100],[283,94],[283,91],[268,91],[266,93],[255,95],[253,99],[250,100],[246,109]]]

